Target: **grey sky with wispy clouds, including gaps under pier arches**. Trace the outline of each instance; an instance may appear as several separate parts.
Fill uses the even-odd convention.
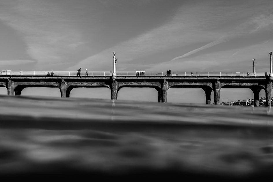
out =
[[[252,59],[256,72],[270,71],[271,4],[272,0],[1,0],[0,69],[111,71],[115,51],[117,71],[251,72]],[[144,100],[157,101],[155,89],[122,89],[118,99],[137,99],[143,92]],[[170,89],[169,101],[188,102],[189,96],[189,102],[199,102],[199,97],[205,101],[203,90]],[[38,94],[35,88],[24,90],[22,95]],[[51,90],[49,96],[58,92]],[[109,92],[81,88],[71,96],[109,98]],[[0,94],[5,93],[1,88]],[[220,101],[224,97],[238,100],[253,94],[249,89],[221,90]]]

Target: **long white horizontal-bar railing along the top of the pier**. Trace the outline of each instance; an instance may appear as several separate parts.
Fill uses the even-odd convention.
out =
[[[89,71],[86,73],[77,71],[0,71],[2,76],[112,76],[112,71]],[[181,72],[181,71],[118,71],[116,76],[149,76],[149,77],[268,77],[269,72]]]

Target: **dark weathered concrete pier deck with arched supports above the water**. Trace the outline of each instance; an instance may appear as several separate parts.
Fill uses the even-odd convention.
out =
[[[205,92],[205,103],[220,105],[221,88],[249,88],[253,92],[254,106],[259,106],[259,92],[265,90],[266,106],[271,107],[272,79],[259,77],[191,77],[191,76],[12,76],[1,75],[0,87],[6,87],[8,95],[21,95],[24,88],[59,88],[61,97],[69,97],[74,88],[105,87],[111,90],[111,99],[118,99],[118,91],[123,87],[155,88],[158,102],[167,102],[169,88],[201,88]]]

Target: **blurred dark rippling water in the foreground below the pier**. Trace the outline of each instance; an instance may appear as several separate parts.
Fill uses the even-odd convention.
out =
[[[1,179],[230,181],[272,172],[267,107],[0,96]]]

